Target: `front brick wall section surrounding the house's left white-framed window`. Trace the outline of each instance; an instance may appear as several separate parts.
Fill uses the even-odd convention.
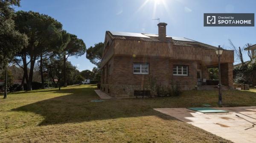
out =
[[[133,73],[134,63],[149,63],[148,75],[137,75]],[[169,84],[169,79],[172,73],[169,66],[170,60],[168,58],[160,57],[129,57],[129,56],[115,56],[113,79],[114,84],[137,84],[142,85],[147,83],[150,76],[154,76],[158,83]]]

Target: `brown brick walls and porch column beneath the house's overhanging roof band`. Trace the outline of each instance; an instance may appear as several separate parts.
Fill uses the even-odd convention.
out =
[[[133,73],[134,63],[148,63],[149,74]],[[111,64],[111,75],[108,75],[108,65]],[[173,76],[173,65],[188,65],[189,76]],[[134,96],[134,90],[143,90],[148,85],[149,78],[154,76],[157,84],[170,85],[179,83],[182,90],[192,90],[197,87],[197,70],[202,70],[203,78],[208,79],[207,67],[197,61],[180,61],[164,57],[132,57],[113,56],[104,66],[107,77],[102,81],[102,90],[113,97]],[[221,64],[221,80],[223,85],[233,86],[233,64]]]

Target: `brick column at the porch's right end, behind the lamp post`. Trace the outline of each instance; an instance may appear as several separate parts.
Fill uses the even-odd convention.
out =
[[[233,87],[233,63],[221,64],[221,84]]]

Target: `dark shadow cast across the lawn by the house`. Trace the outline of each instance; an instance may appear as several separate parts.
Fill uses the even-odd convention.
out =
[[[177,97],[106,99],[104,102],[91,102],[99,99],[94,87],[73,89],[39,90],[34,92],[64,93],[62,96],[49,98],[28,104],[12,111],[34,112],[44,116],[39,126],[59,123],[76,123],[115,118],[158,116],[166,120],[175,120],[152,108],[202,107],[203,104],[218,106],[216,91],[187,91]],[[33,92],[33,91],[32,91]],[[256,93],[249,91],[223,92],[224,103],[229,106],[255,106]],[[244,101],[244,102],[241,102]]]

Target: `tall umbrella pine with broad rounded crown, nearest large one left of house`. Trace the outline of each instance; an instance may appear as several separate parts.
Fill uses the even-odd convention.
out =
[[[48,51],[49,48],[54,51],[55,48],[60,47],[62,44],[62,25],[52,17],[46,14],[39,14],[38,12],[17,11],[16,14],[16,28],[29,37],[29,44],[16,55],[15,61],[17,64],[21,61],[23,62],[23,66],[20,67],[24,70],[27,89],[31,90],[35,61],[42,53]],[[27,57],[29,62],[26,61]],[[27,71],[28,64],[30,64],[29,72]]]

